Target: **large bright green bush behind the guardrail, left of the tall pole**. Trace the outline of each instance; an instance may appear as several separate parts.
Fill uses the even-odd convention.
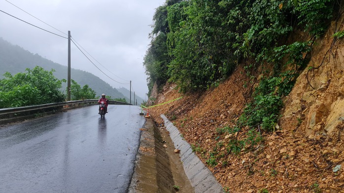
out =
[[[0,80],[0,108],[65,101],[60,90],[62,81],[55,78],[53,72],[36,66],[14,76],[5,73],[5,78]]]

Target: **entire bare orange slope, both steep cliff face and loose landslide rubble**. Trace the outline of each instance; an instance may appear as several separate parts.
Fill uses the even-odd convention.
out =
[[[219,144],[228,144],[231,136],[217,132],[233,126],[250,99],[241,66],[218,87],[149,112],[157,122],[166,114],[185,140],[199,148],[204,163],[215,147],[223,153],[217,165],[208,167],[229,192],[344,192],[344,39],[334,41],[335,29],[344,30],[343,18],[313,47],[309,66],[284,99],[280,130],[263,134],[265,141],[253,151],[227,154]],[[157,93],[155,104],[180,97],[174,87],[166,85]],[[342,169],[334,172],[337,165]]]

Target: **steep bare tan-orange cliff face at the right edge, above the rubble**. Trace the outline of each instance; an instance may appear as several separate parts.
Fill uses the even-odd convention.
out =
[[[344,121],[344,41],[335,41],[335,30],[344,30],[343,18],[331,25],[314,46],[307,68],[286,97],[281,122],[285,129],[303,130],[306,136],[338,133]],[[292,123],[292,124],[290,124]],[[294,127],[294,128],[293,128]]]

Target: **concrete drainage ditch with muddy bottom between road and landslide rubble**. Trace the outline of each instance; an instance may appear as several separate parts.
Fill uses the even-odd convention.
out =
[[[161,117],[168,132],[159,130],[151,119],[146,119],[140,129],[140,146],[128,192],[224,193],[178,129],[165,115]],[[174,149],[179,149],[179,154],[174,154]]]

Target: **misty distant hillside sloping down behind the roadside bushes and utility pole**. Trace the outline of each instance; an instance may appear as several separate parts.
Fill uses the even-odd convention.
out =
[[[67,66],[45,59],[38,54],[30,53],[20,46],[12,45],[0,37],[0,79],[3,78],[2,75],[5,72],[10,72],[14,75],[18,72],[25,72],[26,68],[32,69],[35,66],[40,66],[48,71],[54,69],[56,71],[54,72],[56,78],[60,80],[67,79]],[[80,84],[81,87],[88,84],[90,88],[96,91],[97,97],[105,93],[107,96],[111,96],[111,98],[125,98],[128,103],[130,101],[129,97],[126,97],[116,88],[113,88],[110,84],[89,72],[71,69],[70,74],[71,79]],[[66,93],[67,83],[63,87]]]

